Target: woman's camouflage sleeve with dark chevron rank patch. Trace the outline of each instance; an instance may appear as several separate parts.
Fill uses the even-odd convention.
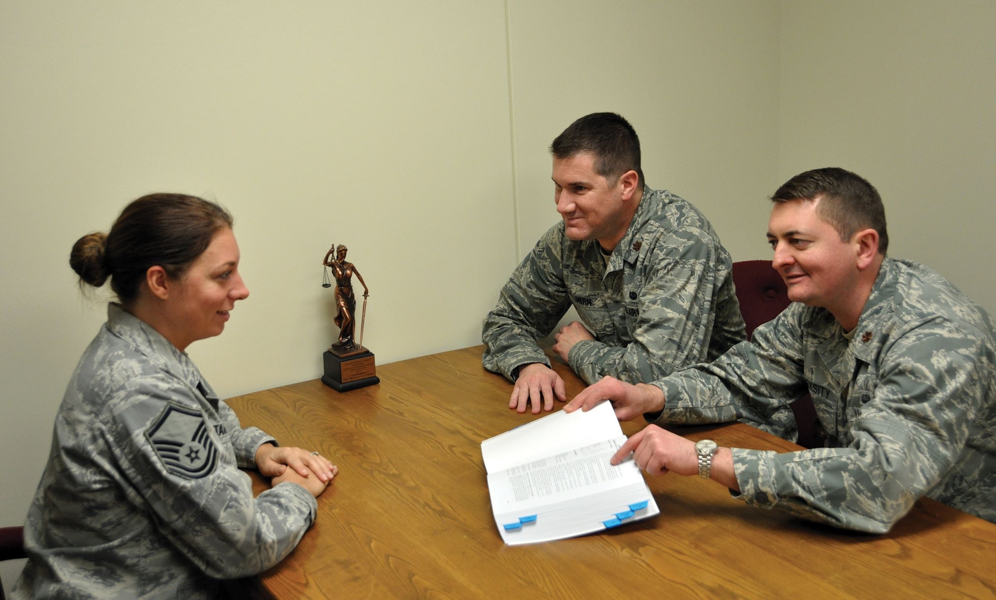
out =
[[[161,375],[133,378],[114,393],[109,406],[118,408],[106,413],[105,428],[124,494],[154,513],[162,534],[205,574],[262,572],[294,549],[318,504],[290,482],[254,498],[232,433],[205,420],[195,393]]]

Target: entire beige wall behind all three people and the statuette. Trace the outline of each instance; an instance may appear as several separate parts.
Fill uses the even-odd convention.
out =
[[[223,397],[320,374],[333,241],[372,287],[378,362],[477,343],[557,220],[546,149],[593,111],[633,123],[647,182],[700,206],[734,259],[770,256],[778,183],[836,163],[882,191],[895,255],[993,311],[992,6],[0,4],[0,524],[23,519],[104,320],[69,248],[153,190],[236,216],[252,297],[191,347]]]

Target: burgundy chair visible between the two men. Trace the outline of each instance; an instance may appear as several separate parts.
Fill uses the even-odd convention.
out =
[[[733,285],[737,288],[740,314],[747,325],[747,338],[754,335],[758,325],[777,317],[791,304],[789,291],[782,276],[771,266],[770,260],[742,260],[733,263]],[[809,394],[790,405],[799,427],[799,445],[806,448],[822,447],[816,438],[814,424],[816,409]]]

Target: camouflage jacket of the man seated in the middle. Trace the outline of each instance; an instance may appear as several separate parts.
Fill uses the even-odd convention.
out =
[[[568,362],[583,380],[648,382],[712,360],[746,339],[730,255],[705,216],[662,190],[644,189],[608,266],[596,240],[554,225],[512,273],[484,320],[484,367],[550,361],[537,345],[573,304],[595,340]]]

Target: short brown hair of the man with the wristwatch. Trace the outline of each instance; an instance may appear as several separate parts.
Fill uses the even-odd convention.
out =
[[[771,195],[775,202],[805,200],[815,202],[820,218],[837,229],[841,240],[848,241],[862,229],[878,232],[878,252],[888,250],[885,229],[885,206],[881,196],[867,179],[850,170],[829,166],[799,173]]]

